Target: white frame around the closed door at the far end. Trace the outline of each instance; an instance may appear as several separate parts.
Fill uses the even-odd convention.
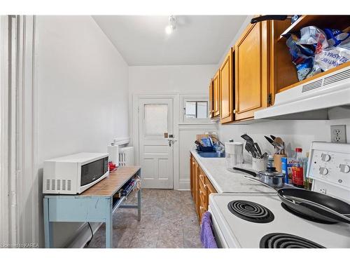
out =
[[[179,139],[180,105],[179,93],[136,93],[132,95],[132,145],[134,146],[135,164],[140,164],[139,145],[139,100],[140,99],[172,99],[173,100],[173,133]],[[179,189],[179,142],[173,144],[173,188]]]

